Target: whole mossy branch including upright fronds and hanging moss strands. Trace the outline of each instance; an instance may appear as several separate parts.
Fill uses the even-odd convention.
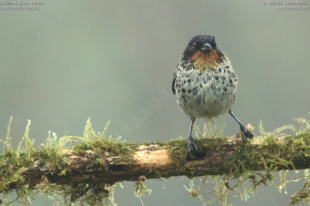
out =
[[[185,175],[190,178],[213,175],[216,183],[213,192],[222,204],[227,204],[228,190],[247,199],[248,192],[255,193],[260,184],[272,181],[272,172],[277,170],[305,170],[306,182],[291,198],[291,204],[300,200],[310,200],[310,124],[304,118],[296,119],[302,123],[297,129],[292,125],[265,132],[260,124],[263,136],[255,136],[246,143],[241,141],[241,134],[223,137],[224,126],[214,126],[212,119],[206,119],[203,133],[195,126],[199,148],[195,157],[188,153],[184,138],[168,142],[145,142],[135,144],[118,139],[105,138],[103,132],[96,134],[87,120],[83,137],[67,136],[58,138],[55,133],[41,144],[42,149],[34,147],[28,137],[30,120],[18,149],[11,148],[9,121],[8,135],[4,141],[4,153],[0,154],[0,195],[7,199],[7,194],[16,191],[17,199],[24,204],[35,194],[58,195],[64,205],[88,203],[91,205],[115,205],[113,187],[122,181],[134,181],[135,194],[143,191],[150,193],[142,182],[145,179],[169,178]],[[247,125],[252,131],[253,127]],[[283,129],[296,131],[295,136],[279,134]],[[21,148],[25,140],[26,147]],[[67,142],[78,140],[72,149],[66,148]],[[265,171],[265,172],[262,172]],[[285,188],[286,172],[282,173],[280,188]],[[217,175],[217,176],[216,176]],[[221,181],[217,177],[221,176]],[[231,183],[237,180],[237,183]],[[243,183],[250,182],[244,188]],[[193,197],[198,195],[201,185],[195,190],[193,181],[190,189]],[[242,188],[242,190],[237,189]],[[33,190],[38,190],[33,193]],[[68,196],[70,198],[68,199]],[[102,202],[102,201],[105,202]],[[210,200],[211,202],[213,200]],[[2,200],[0,199],[0,204]]]

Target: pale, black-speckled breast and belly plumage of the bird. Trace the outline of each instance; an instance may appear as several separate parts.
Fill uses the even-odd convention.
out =
[[[236,98],[237,76],[226,56],[216,68],[199,69],[194,61],[180,61],[173,79],[177,102],[193,119],[228,112]]]

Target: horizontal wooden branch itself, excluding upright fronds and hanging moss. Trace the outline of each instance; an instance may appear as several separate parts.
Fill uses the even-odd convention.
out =
[[[179,175],[222,175],[231,170],[266,170],[270,166],[275,170],[307,169],[310,166],[310,156],[304,155],[305,146],[310,147],[310,134],[273,140],[255,136],[246,144],[240,139],[240,135],[226,139],[197,139],[199,153],[193,160],[186,159],[189,156],[184,139],[160,145],[131,145],[128,154],[116,151],[102,154],[89,149],[81,151],[81,147],[76,151],[63,149],[63,157],[71,162],[65,168],[51,172],[50,166],[47,166],[49,163],[35,161],[24,168],[21,176],[24,178],[23,184],[36,186],[43,176],[56,184],[115,183]],[[66,172],[60,175],[61,170]],[[20,186],[11,183],[9,188]]]

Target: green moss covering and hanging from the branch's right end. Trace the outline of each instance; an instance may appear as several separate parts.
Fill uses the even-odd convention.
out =
[[[259,130],[264,136],[261,142],[257,144],[236,145],[233,161],[227,162],[227,168],[230,168],[229,171],[221,176],[210,175],[210,177],[213,177],[213,183],[215,183],[215,188],[212,192],[216,195],[213,199],[208,201],[208,203],[219,201],[222,205],[229,205],[228,191],[238,194],[242,200],[247,200],[250,195],[255,194],[258,185],[268,185],[272,183],[274,171],[283,170],[285,168],[296,169],[292,163],[292,160],[296,160],[296,157],[301,159],[300,165],[304,167],[302,166],[303,158],[307,158],[310,151],[310,122],[304,118],[295,120],[302,123],[300,129],[292,125],[286,125],[272,132],[265,132],[262,124],[260,124]],[[284,134],[281,132],[287,128],[296,132],[296,136],[285,137],[283,141],[284,144],[281,144],[276,137],[283,137]],[[207,141],[206,144],[209,144],[210,147],[216,147],[216,145],[223,146],[223,144],[225,144],[223,140],[219,140],[216,135],[213,136],[215,136],[215,138],[211,138],[213,141],[208,141],[203,138],[199,139],[197,141],[198,144],[200,143],[199,147],[201,147],[201,144],[204,145],[204,141]],[[205,176],[204,179],[207,177],[208,176]],[[301,201],[305,204],[310,202],[310,174],[308,170],[305,170],[305,176],[303,178],[306,183],[299,191],[292,195],[290,204],[297,204]],[[285,184],[290,181],[293,180],[285,180],[285,175],[282,174],[281,187],[279,188],[285,187]],[[192,184],[193,182],[190,181],[190,188],[187,190],[194,198],[199,197],[198,191],[201,185],[198,186],[198,189],[195,189]]]

